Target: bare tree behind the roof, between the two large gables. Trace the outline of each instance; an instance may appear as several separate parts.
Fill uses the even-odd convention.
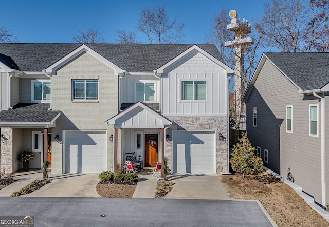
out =
[[[149,43],[153,42],[154,36],[158,44],[180,42],[184,37],[185,24],[176,18],[171,20],[164,6],[143,9],[137,22],[137,30],[147,35]]]

